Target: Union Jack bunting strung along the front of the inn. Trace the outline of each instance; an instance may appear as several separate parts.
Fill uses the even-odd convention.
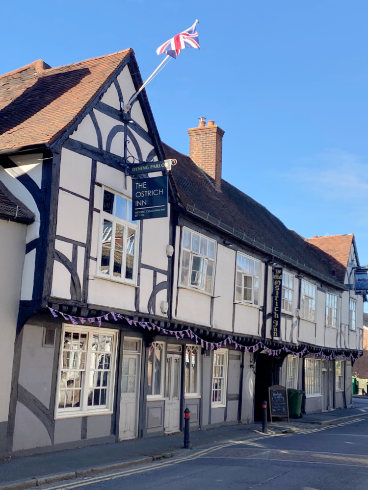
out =
[[[167,330],[165,328],[159,327],[155,323],[152,323],[149,321],[131,320],[130,318],[123,317],[120,313],[114,313],[112,311],[110,311],[109,313],[106,313],[105,315],[102,315],[101,317],[83,318],[83,317],[72,317],[71,315],[66,315],[65,313],[62,313],[61,311],[56,311],[50,307],[49,307],[49,310],[50,310],[51,314],[53,315],[53,318],[57,318],[58,315],[61,315],[66,321],[70,321],[71,323],[73,323],[73,325],[78,325],[78,320],[79,320],[82,325],[86,321],[88,321],[89,323],[97,322],[98,326],[101,327],[102,326],[102,319],[105,319],[108,321],[109,316],[111,316],[111,319],[113,319],[114,321],[124,319],[131,326],[132,325],[134,325],[134,326],[139,325],[143,329],[147,328],[148,330],[157,330],[158,332],[161,332],[164,335],[174,335],[176,337],[176,339],[178,339],[178,340],[184,339],[184,335],[186,335],[189,339],[192,339],[192,340],[194,339],[196,344],[200,343],[201,347],[206,349],[206,350],[208,350],[208,349],[216,350],[216,349],[220,349],[222,345],[233,344],[235,349],[239,349],[239,350],[242,350],[244,352],[257,352],[259,349],[262,349],[269,356],[278,356],[281,354],[282,351],[285,351],[288,354],[296,356],[296,357],[304,357],[305,355],[308,354],[309,356],[311,356],[313,358],[322,357],[323,359],[325,359],[327,361],[331,361],[332,359],[352,359],[352,360],[354,359],[355,360],[355,359],[358,359],[362,355],[362,352],[358,352],[357,357],[354,357],[352,352],[350,352],[349,356],[346,356],[344,354],[344,352],[342,352],[341,354],[337,354],[335,352],[332,352],[329,356],[326,356],[326,354],[324,354],[324,352],[322,350],[320,350],[318,352],[311,352],[307,349],[307,347],[304,347],[304,349],[299,351],[299,352],[295,352],[293,350],[290,350],[288,347],[285,347],[285,346],[281,347],[280,349],[270,349],[263,342],[258,342],[258,343],[255,343],[254,345],[242,345],[240,343],[235,342],[235,340],[233,340],[231,337],[226,337],[225,340],[223,340],[221,342],[217,342],[217,343],[216,342],[207,342],[204,339],[201,339],[200,337],[198,337],[198,335],[196,335],[194,332],[192,332],[192,330],[190,330],[189,328],[187,330],[181,330],[181,331]]]

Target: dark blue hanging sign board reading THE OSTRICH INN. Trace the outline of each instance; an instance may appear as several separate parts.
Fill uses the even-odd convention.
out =
[[[167,216],[167,175],[133,180],[132,219],[149,220]]]

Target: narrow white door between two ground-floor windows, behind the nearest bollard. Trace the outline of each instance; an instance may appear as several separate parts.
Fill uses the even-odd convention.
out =
[[[165,432],[180,431],[180,374],[182,356],[167,354],[165,388]]]

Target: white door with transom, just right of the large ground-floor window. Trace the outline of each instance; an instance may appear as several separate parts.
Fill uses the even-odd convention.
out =
[[[125,350],[126,345],[139,353]],[[140,373],[140,341],[124,339],[124,351],[121,373],[119,439],[137,437],[138,404],[139,404],[139,373]]]

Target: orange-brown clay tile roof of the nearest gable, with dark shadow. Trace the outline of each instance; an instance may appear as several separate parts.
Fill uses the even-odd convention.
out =
[[[82,113],[131,49],[51,68],[42,60],[0,76],[0,150],[50,144]]]

